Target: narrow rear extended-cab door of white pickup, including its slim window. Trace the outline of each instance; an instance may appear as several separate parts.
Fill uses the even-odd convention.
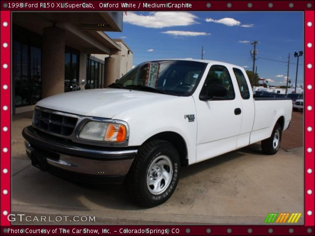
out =
[[[242,148],[250,145],[250,137],[252,125],[255,116],[254,100],[252,98],[252,90],[249,89],[249,80],[245,77],[246,72],[243,68],[233,68],[233,76],[237,81],[238,91],[242,101],[242,125],[240,134],[237,138],[236,148]]]

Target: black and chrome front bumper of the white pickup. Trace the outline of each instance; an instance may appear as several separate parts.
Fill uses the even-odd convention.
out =
[[[32,165],[83,182],[122,182],[137,154],[134,147],[100,148],[52,141],[32,126],[25,127],[22,135]]]

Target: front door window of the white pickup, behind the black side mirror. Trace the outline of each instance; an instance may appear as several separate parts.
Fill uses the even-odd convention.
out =
[[[225,89],[226,95],[224,97],[214,96],[212,100],[233,100],[235,98],[231,76],[227,68],[223,65],[211,66],[200,95],[213,96],[213,89],[218,87]]]

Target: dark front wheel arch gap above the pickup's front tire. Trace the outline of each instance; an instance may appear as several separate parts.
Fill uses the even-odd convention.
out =
[[[173,131],[165,131],[160,132],[158,134],[155,134],[151,136],[149,139],[147,139],[145,142],[151,141],[151,140],[165,140],[177,149],[180,160],[181,160],[181,166],[187,166],[188,165],[188,149],[187,144],[185,142],[185,139],[178,133]]]

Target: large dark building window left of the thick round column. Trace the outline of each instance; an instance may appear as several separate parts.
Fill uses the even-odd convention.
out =
[[[35,104],[41,99],[41,37],[13,25],[14,100],[16,107]]]

